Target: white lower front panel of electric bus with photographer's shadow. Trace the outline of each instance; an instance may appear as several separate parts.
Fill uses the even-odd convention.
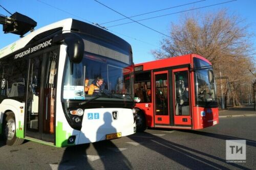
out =
[[[117,111],[114,119],[113,111]],[[86,109],[78,144],[105,140],[107,134],[121,132],[121,136],[134,134],[132,109],[100,108]]]

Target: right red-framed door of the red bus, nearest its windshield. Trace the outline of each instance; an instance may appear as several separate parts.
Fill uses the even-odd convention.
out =
[[[174,126],[190,126],[190,91],[188,68],[173,70]]]

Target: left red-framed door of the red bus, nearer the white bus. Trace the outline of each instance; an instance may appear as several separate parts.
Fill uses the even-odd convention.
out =
[[[155,125],[169,125],[168,71],[154,72]]]

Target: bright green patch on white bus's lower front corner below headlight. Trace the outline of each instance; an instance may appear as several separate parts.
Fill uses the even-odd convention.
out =
[[[67,147],[68,145],[68,138],[71,136],[71,133],[67,134],[67,131],[63,131],[63,124],[61,122],[57,123],[56,126],[56,147]]]

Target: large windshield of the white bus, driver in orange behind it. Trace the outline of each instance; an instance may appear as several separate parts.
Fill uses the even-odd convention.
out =
[[[133,84],[132,69],[129,64],[120,61],[89,54],[84,52],[80,63],[71,63],[66,60],[63,82],[63,95],[65,100],[90,100],[97,94],[104,94],[102,100],[132,101]],[[97,79],[101,79],[101,86],[95,93]],[[93,93],[90,93],[90,90]]]

